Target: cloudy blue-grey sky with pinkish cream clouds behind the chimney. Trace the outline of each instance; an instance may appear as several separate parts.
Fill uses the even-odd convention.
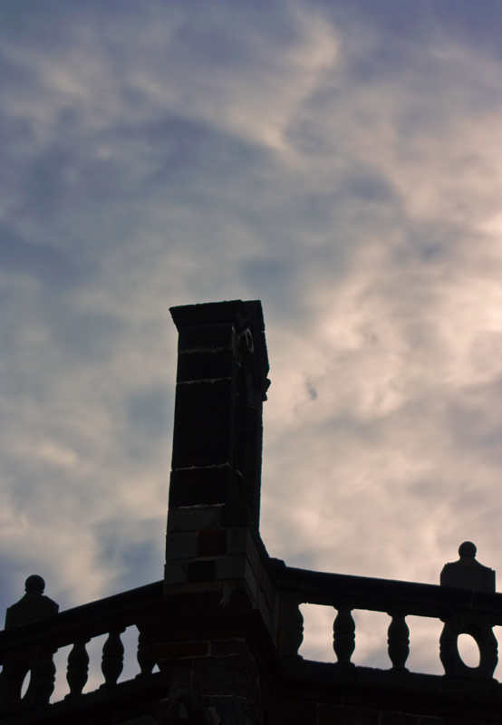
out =
[[[502,573],[501,23],[498,0],[4,0],[3,607],[34,573],[61,608],[161,578],[169,307],[224,299],[264,307],[271,556],[438,584],[471,540]],[[379,617],[355,662],[388,666]],[[305,621],[333,658],[333,611]],[[427,672],[437,625],[410,626]]]

